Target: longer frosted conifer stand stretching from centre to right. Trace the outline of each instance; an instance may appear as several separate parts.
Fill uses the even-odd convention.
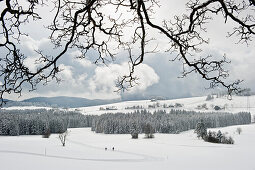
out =
[[[179,133],[195,129],[201,119],[208,128],[251,123],[251,115],[247,112],[231,114],[171,110],[166,113],[159,110],[151,113],[137,110],[134,113],[107,113],[96,116],[92,122],[92,131],[105,134],[139,134],[145,133],[150,127],[152,132]]]

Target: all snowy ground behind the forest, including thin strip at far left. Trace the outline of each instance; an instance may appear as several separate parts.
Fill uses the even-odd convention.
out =
[[[76,107],[69,108],[71,111],[79,111],[87,115],[101,115],[104,113],[128,113],[134,112],[137,109],[147,109],[151,112],[155,110],[180,109],[180,110],[194,110],[201,112],[215,112],[215,106],[221,108],[221,112],[237,113],[241,111],[250,112],[252,116],[255,115],[255,95],[253,96],[233,96],[231,100],[227,97],[221,97],[206,101],[207,96],[181,98],[172,100],[137,100],[124,101],[112,104]],[[69,99],[68,99],[69,100]],[[180,107],[181,105],[181,107]],[[206,107],[204,107],[206,106]],[[37,107],[37,106],[13,106],[4,109],[51,109],[52,107]],[[60,108],[61,109],[61,108]]]

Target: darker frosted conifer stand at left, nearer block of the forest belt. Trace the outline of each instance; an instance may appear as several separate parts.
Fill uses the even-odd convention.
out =
[[[67,128],[91,127],[92,116],[60,110],[0,110],[0,135],[63,133]]]

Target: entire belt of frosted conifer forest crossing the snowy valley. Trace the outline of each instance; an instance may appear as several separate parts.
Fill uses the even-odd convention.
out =
[[[239,112],[196,112],[172,109],[150,112],[146,109],[132,113],[83,115],[74,111],[0,110],[0,135],[43,135],[63,133],[67,128],[91,127],[96,133],[132,134],[151,132],[176,134],[195,129],[203,120],[207,128],[226,127],[251,123],[251,114]]]

